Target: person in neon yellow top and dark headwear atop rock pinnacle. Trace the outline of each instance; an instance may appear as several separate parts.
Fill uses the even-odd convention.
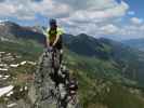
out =
[[[49,21],[50,28],[44,31],[45,35],[45,46],[48,50],[56,49],[60,51],[60,64],[62,62],[62,55],[63,55],[63,42],[62,42],[62,35],[64,33],[64,30],[57,26],[56,19],[51,18]]]

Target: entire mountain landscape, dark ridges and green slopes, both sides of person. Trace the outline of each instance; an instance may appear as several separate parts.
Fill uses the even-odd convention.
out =
[[[0,51],[37,60],[44,36],[37,27],[0,24]],[[122,42],[84,33],[63,36],[64,59],[79,80],[83,108],[144,108],[144,53]],[[135,92],[139,91],[139,92]]]

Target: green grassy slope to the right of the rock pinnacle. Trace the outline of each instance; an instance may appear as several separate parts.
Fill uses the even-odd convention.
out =
[[[68,67],[79,81],[83,108],[100,108],[100,105],[102,108],[144,108],[143,97],[130,93],[122,84],[134,85],[135,82],[125,79],[115,62],[66,52]]]

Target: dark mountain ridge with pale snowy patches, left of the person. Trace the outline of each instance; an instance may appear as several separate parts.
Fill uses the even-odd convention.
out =
[[[23,27],[12,22],[0,23],[0,39],[15,41],[16,39],[32,39],[43,43],[44,36],[35,27]]]

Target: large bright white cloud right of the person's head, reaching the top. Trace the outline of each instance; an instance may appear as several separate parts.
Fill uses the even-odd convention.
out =
[[[61,0],[61,2],[62,1],[65,0]],[[92,36],[110,33],[117,28],[109,23],[125,16],[129,9],[129,5],[123,1],[117,3],[115,0],[93,0],[92,3],[92,0],[83,2],[80,0],[79,3],[81,2],[81,5],[86,6],[89,4],[83,10],[83,6],[81,9],[77,8],[79,4],[75,4],[74,1],[73,5],[75,6],[75,11],[71,11],[69,17],[61,19],[62,24],[68,25],[70,29],[68,31],[73,33],[86,32]],[[70,4],[70,2],[67,1],[66,4]],[[102,27],[105,29],[100,29],[100,25],[106,26]]]

